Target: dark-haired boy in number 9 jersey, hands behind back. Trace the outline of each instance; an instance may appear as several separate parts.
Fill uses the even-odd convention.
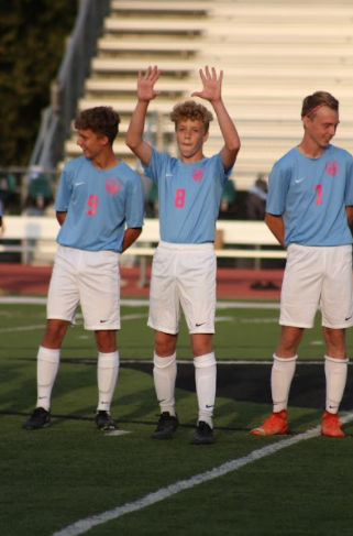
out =
[[[55,208],[60,225],[47,298],[47,324],[37,354],[37,404],[23,423],[27,430],[49,422],[51,396],[67,327],[78,304],[98,349],[99,429],[115,429],[110,415],[120,329],[120,254],[141,234],[142,183],[112,149],[120,118],[110,107],[84,110],[75,121],[84,155],[65,164]],[[125,228],[126,226],[126,228]]]

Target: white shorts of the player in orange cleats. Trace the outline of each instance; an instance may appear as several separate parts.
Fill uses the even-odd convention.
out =
[[[279,324],[312,328],[318,306],[322,326],[353,326],[352,245],[289,245]]]

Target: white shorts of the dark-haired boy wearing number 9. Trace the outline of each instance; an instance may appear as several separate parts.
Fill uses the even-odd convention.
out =
[[[58,245],[47,297],[47,318],[75,325],[78,304],[88,330],[120,329],[120,254]]]

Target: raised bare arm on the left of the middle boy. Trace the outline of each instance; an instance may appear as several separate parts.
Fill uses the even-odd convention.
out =
[[[145,165],[150,165],[152,147],[144,141],[143,131],[150,101],[161,94],[161,91],[154,91],[153,89],[159,75],[161,70],[156,66],[153,68],[148,67],[144,76],[141,70],[139,72],[137,105],[132,114],[125,140],[128,147]]]

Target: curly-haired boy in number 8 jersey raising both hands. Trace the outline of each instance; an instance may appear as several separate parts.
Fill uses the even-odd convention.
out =
[[[201,69],[203,89],[192,96],[208,100],[217,114],[224,139],[219,154],[207,158],[212,113],[202,105],[187,101],[176,105],[170,119],[175,123],[180,157],[154,150],[143,140],[150,101],[158,91],[154,85],[161,70],[148,67],[139,74],[137,105],[126,135],[126,144],[141,160],[145,175],[158,187],[161,242],[153,259],[148,326],[155,332],[154,384],[161,417],[153,439],[169,439],[178,427],[175,411],[177,375],[176,344],[183,308],[194,353],[196,391],[199,405],[192,445],[213,442],[216,400],[216,358],[212,347],[216,309],[216,221],[223,187],[240,150],[236,129],[221,97],[223,73]]]

